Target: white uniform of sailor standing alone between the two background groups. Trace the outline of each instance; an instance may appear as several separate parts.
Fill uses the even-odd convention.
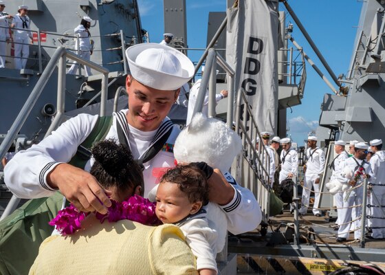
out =
[[[303,188],[302,206],[299,210],[301,214],[306,214],[307,208],[309,208],[311,186],[314,188],[314,206],[318,205],[318,201],[320,201],[320,184],[316,184],[316,179],[321,177],[325,168],[325,153],[320,148],[316,147],[314,150],[307,148],[306,157],[307,169],[304,186],[309,190]],[[321,211],[318,208],[313,208],[313,214],[321,214]]]

